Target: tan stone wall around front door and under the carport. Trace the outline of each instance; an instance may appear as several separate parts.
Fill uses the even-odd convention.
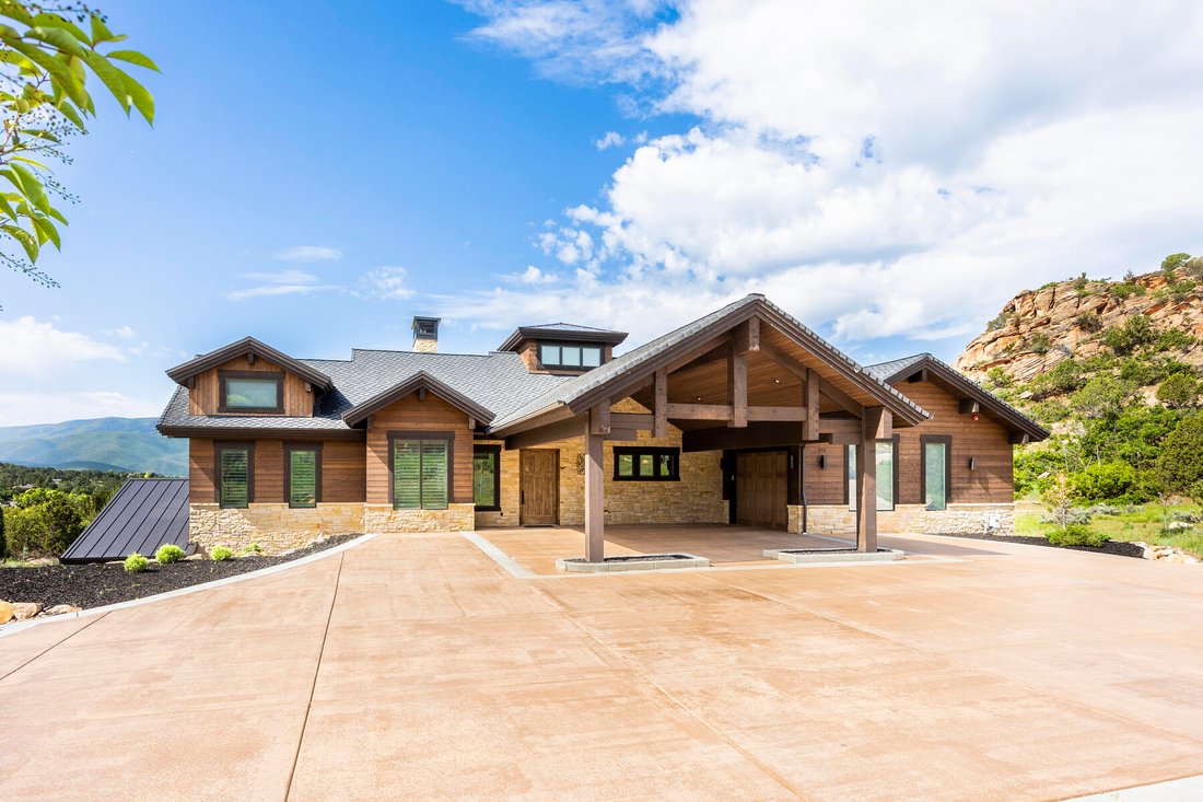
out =
[[[614,405],[615,412],[647,412],[626,399]],[[496,443],[494,443],[496,444]],[[666,437],[653,438],[639,432],[638,440],[605,444],[605,523],[606,524],[725,524],[721,452],[681,454],[680,482],[615,482],[615,446],[681,446],[681,430],[669,426]],[[585,443],[583,438],[564,440],[537,448],[559,450],[559,523],[563,526],[585,524]],[[503,450],[502,509],[476,513],[476,526],[517,526],[521,501],[520,452]]]

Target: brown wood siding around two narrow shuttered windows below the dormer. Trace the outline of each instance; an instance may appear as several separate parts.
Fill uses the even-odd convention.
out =
[[[247,441],[238,441],[247,442]],[[188,448],[189,501],[217,503],[217,465],[212,440],[194,438]],[[256,440],[254,503],[282,503],[284,497],[284,441]],[[321,444],[322,503],[363,502],[365,454],[361,442],[325,441]]]

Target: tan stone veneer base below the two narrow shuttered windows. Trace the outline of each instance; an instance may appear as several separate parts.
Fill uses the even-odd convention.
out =
[[[188,506],[188,535],[202,550],[227,546],[236,552],[259,543],[267,554],[304,546],[321,535],[363,531],[363,503],[319,503],[292,509],[286,503],[251,503],[223,509],[215,503]]]

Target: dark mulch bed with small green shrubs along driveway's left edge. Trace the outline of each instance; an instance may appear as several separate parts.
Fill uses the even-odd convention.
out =
[[[55,605],[75,605],[87,609],[291,562],[356,537],[358,535],[336,535],[280,556],[183,560],[170,565],[152,562],[150,570],[142,573],[126,573],[120,562],[0,568],[0,598],[11,602],[41,602],[43,609]]]

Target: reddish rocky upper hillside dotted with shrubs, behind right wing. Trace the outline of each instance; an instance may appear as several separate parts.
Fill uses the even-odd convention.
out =
[[[1144,350],[1203,367],[1201,277],[1203,258],[1174,254],[1162,270],[1122,281],[1083,275],[1024,290],[965,348],[956,367],[996,387],[1030,383],[1066,360]],[[1160,347],[1144,348],[1152,343]]]

